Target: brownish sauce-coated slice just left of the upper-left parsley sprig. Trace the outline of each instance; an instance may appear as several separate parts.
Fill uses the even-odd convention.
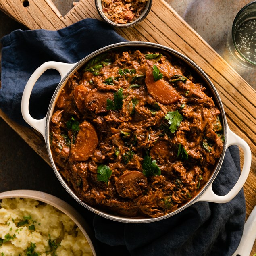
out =
[[[85,106],[96,114],[106,112],[107,99],[113,99],[112,92],[100,92],[93,89],[85,98]]]

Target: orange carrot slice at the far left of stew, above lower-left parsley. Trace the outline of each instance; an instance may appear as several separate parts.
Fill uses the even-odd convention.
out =
[[[79,125],[75,144],[71,146],[71,160],[86,161],[96,150],[98,137],[94,127],[87,121]]]

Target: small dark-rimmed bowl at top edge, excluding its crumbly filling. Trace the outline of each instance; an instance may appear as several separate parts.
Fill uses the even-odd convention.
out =
[[[137,25],[139,22],[141,22],[142,20],[144,20],[146,18],[146,16],[148,15],[148,13],[150,12],[150,9],[151,9],[151,6],[152,6],[152,2],[153,2],[153,0],[148,0],[147,4],[146,4],[146,8],[143,10],[141,15],[137,19],[135,19],[134,21],[132,21],[130,23],[126,23],[126,24],[114,23],[113,21],[108,19],[106,17],[106,15],[104,14],[103,10],[102,10],[102,0],[95,0],[95,5],[96,5],[96,9],[97,9],[100,17],[106,23],[108,23],[108,24],[110,24],[110,25],[112,25],[114,27],[126,28],[126,27],[133,27],[133,26]]]

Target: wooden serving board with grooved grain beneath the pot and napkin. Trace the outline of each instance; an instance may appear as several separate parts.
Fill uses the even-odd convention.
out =
[[[25,7],[27,6],[27,7]],[[0,0],[0,9],[29,29],[56,30],[88,17],[100,19],[94,0],[80,0],[63,17],[51,0]],[[164,1],[154,0],[147,18],[117,32],[130,41],[169,46],[196,62],[210,77],[223,102],[229,127],[252,150],[252,167],[244,186],[246,217],[256,205],[256,92]],[[21,127],[0,110],[2,117],[46,162],[44,140],[35,130]],[[252,252],[256,252],[256,246]]]

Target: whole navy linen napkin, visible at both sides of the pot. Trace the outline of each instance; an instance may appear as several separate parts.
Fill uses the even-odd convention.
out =
[[[74,63],[94,50],[123,41],[111,27],[96,19],[85,19],[59,31],[40,29],[10,33],[1,40],[0,108],[12,120],[25,125],[20,110],[21,96],[37,67],[50,60]],[[45,116],[58,82],[56,72],[49,71],[41,76],[31,96],[33,117]],[[230,146],[213,183],[214,191],[227,194],[239,174],[239,149]],[[229,256],[239,244],[244,221],[245,199],[241,190],[226,204],[197,202],[173,217],[154,223],[119,223],[95,215],[93,227],[105,255],[111,246],[111,255]]]

